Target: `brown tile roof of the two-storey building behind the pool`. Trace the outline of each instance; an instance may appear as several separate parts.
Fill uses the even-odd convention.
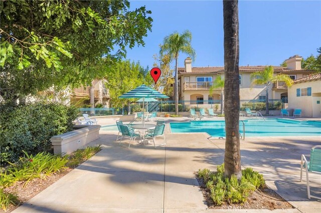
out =
[[[309,69],[288,69],[285,66],[272,66],[275,72],[313,72]],[[265,66],[239,66],[240,72],[254,72],[263,71]],[[224,72],[224,66],[206,66],[206,67],[192,67],[192,72],[186,72],[185,67],[178,67],[179,74],[200,74],[200,73],[218,73]]]

